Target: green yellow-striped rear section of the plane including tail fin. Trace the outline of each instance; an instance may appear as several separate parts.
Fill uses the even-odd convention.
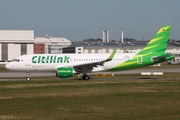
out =
[[[166,55],[165,50],[170,30],[171,26],[161,27],[150,42],[139,53],[109,71],[135,69],[166,61],[167,58],[158,59],[157,61],[154,61],[152,58]],[[169,58],[172,59],[174,57],[171,56]]]

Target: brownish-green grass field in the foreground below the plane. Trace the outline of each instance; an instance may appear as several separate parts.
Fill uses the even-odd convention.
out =
[[[0,119],[179,120],[180,75],[1,81]]]

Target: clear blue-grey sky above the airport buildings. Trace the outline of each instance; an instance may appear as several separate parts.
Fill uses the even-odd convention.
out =
[[[163,25],[172,25],[171,39],[180,39],[180,0],[0,0],[0,30],[34,30],[71,41],[124,37],[151,39]]]

